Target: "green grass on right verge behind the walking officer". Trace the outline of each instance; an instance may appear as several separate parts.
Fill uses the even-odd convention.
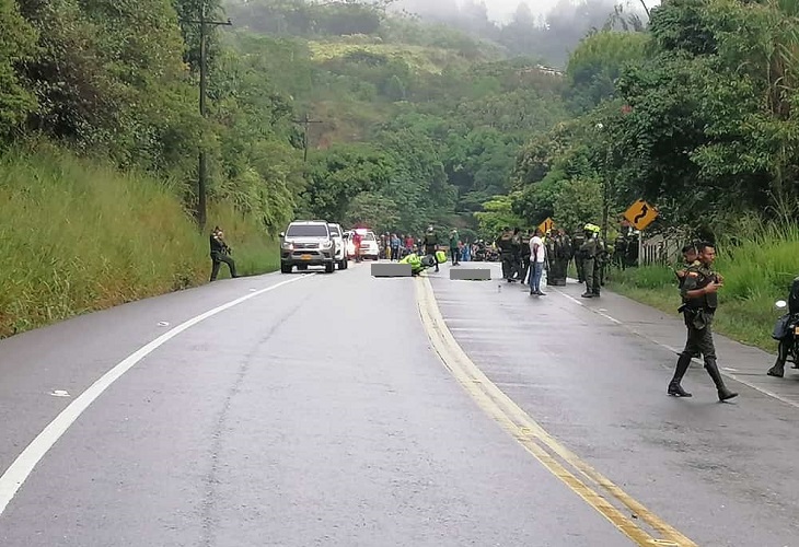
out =
[[[786,300],[799,276],[799,226],[769,225],[741,238],[736,246],[719,244],[716,270],[725,278],[719,290],[715,330],[734,340],[776,352],[774,322],[781,314],[774,302]],[[612,270],[609,288],[678,316],[680,294],[673,270],[645,266]]]

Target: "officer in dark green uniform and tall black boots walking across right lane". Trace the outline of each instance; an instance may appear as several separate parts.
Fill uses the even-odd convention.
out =
[[[685,317],[687,339],[685,348],[680,353],[674,376],[669,383],[669,395],[675,397],[691,397],[691,394],[682,388],[685,372],[691,365],[691,358],[697,351],[705,358],[705,369],[716,384],[719,400],[727,400],[737,397],[725,385],[721,373],[716,364],[716,348],[713,344],[713,318],[718,307],[718,288],[723,286],[723,278],[713,270],[713,263],[716,259],[716,249],[709,243],[698,245],[699,264],[691,265],[685,271],[680,294],[683,305],[680,312]]]

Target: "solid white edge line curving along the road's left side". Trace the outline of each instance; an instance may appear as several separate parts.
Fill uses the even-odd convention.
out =
[[[139,348],[134,353],[129,354],[121,362],[111,369],[108,372],[103,374],[94,384],[92,384],[85,392],[80,394],[70,405],[61,410],[50,423],[34,439],[31,444],[20,454],[14,463],[12,463],[5,473],[0,477],[0,515],[3,514],[5,508],[9,505],[11,500],[14,498],[19,489],[25,482],[27,477],[33,472],[34,467],[38,465],[42,458],[53,447],[56,442],[67,432],[69,427],[85,411],[94,400],[102,395],[114,382],[119,380],[126,372],[134,368],[136,363],[141,361],[144,357],[153,352],[159,347],[166,344],[169,340],[180,335],[184,330],[197,325],[198,323],[217,315],[220,312],[230,310],[231,307],[241,304],[252,298],[264,294],[265,292],[273,291],[285,284],[293,283],[314,276],[315,272],[310,272],[300,277],[281,281],[279,283],[269,286],[265,289],[260,289],[255,292],[251,292],[244,296],[232,300],[227,304],[222,304],[212,310],[209,310],[200,315],[192,317],[177,325],[176,327],[162,334],[150,344]]]

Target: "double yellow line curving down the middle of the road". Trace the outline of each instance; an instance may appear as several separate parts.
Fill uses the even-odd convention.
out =
[[[483,371],[466,356],[458,344],[436,302],[430,281],[416,279],[417,301],[421,323],[427,331],[433,349],[444,368],[460,382],[477,405],[510,433],[533,457],[549,473],[555,475],[571,491],[582,498],[610,521],[624,535],[641,546],[696,547],[696,544],[678,529],[663,522],[610,479],[580,459],[577,454],[555,440],[530,415],[505,394]],[[566,464],[577,470],[586,481],[593,482],[604,489],[612,499],[628,508],[638,519],[655,529],[661,538],[652,537],[647,531],[627,517],[615,505],[569,472],[544,447],[549,449]]]

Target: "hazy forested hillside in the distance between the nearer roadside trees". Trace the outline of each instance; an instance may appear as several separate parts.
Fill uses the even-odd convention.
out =
[[[476,228],[473,212],[510,189],[520,147],[568,117],[564,79],[542,67],[546,60],[532,45],[531,55],[514,57],[485,33],[370,4],[251,0],[230,2],[227,13],[235,22],[228,42],[257,59],[264,84],[287,97],[298,117],[316,121],[309,127],[313,167],[303,196],[316,217],[396,210],[395,224],[408,230],[430,220]],[[375,153],[398,154],[413,166],[398,166],[390,187],[371,191],[371,183],[350,181],[331,203],[325,193],[340,184],[333,181],[336,166],[381,163]],[[396,177],[408,187],[397,189]]]

